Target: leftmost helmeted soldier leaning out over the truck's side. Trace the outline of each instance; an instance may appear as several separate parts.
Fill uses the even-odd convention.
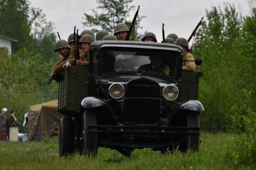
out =
[[[50,73],[50,77],[52,77],[55,72],[63,71],[62,66],[64,65],[64,63],[66,62],[70,54],[70,45],[66,40],[58,40],[55,43],[54,51],[55,52],[58,51],[58,53],[61,55],[62,58],[58,63],[56,63],[52,67],[52,72]]]

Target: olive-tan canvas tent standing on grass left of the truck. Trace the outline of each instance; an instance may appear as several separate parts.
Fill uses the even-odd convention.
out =
[[[29,106],[28,139],[40,140],[49,135],[52,123],[60,123],[61,114],[57,112],[58,100]]]

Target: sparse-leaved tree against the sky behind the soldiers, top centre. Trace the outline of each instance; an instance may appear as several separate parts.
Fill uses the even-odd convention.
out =
[[[84,26],[94,27],[94,31],[98,31],[100,28],[112,32],[112,34],[114,34],[117,23],[126,23],[127,26],[130,26],[131,21],[127,19],[130,16],[130,11],[135,10],[135,6],[130,5],[133,0],[97,0],[96,2],[99,4],[97,9],[102,10],[102,13],[98,14],[95,10],[93,10],[93,15],[84,13],[85,22],[82,22]],[[138,15],[135,23],[136,29],[142,28],[139,23],[144,17]],[[138,37],[138,32],[135,35]]]

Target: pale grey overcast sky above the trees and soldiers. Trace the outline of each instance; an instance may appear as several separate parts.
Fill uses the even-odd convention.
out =
[[[47,20],[52,21],[55,32],[61,34],[62,39],[67,39],[73,32],[73,27],[82,32],[84,28],[82,17],[84,13],[93,14],[97,10],[96,1],[93,0],[29,0],[31,7],[38,7],[46,14]],[[224,2],[234,4],[243,16],[249,15],[248,0],[134,0],[135,8],[141,5],[140,15],[146,16],[142,20],[143,29],[139,32],[154,32],[157,41],[162,41],[162,23],[165,23],[165,36],[175,33],[178,37],[188,38],[195,26],[206,14],[206,9],[212,6],[224,6]],[[135,11],[131,11],[130,20]],[[90,29],[90,28],[89,28]]]

